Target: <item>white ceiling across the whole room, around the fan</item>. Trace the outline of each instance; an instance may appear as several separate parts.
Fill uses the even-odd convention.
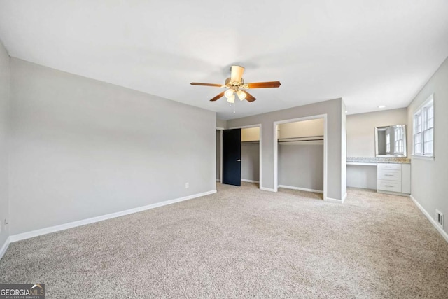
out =
[[[348,113],[405,107],[448,56],[447,0],[0,0],[12,57],[231,119],[342,97]],[[253,103],[209,99],[230,66]]]

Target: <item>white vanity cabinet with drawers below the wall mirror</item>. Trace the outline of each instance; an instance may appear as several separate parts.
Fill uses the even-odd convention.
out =
[[[377,192],[409,195],[411,193],[411,165],[378,163]]]

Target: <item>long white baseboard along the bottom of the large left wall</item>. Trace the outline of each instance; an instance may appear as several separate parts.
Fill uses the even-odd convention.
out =
[[[88,218],[88,219],[83,219],[80,221],[73,221],[70,223],[64,223],[61,225],[55,225],[55,226],[51,226],[49,228],[41,228],[40,230],[32,230],[31,232],[22,232],[21,234],[17,234],[17,235],[11,235],[10,236],[10,242],[17,242],[20,241],[22,239],[29,239],[32,237],[37,237],[40,235],[46,235],[46,234],[50,234],[51,232],[59,232],[59,230],[66,230],[69,228],[76,228],[77,226],[82,226],[82,225],[86,225],[86,224],[90,224],[90,223],[95,223],[95,222],[99,222],[99,221],[104,221],[107,219],[111,219],[111,218],[116,218],[116,217],[120,217],[120,216],[125,216],[125,215],[129,215],[129,214],[134,214],[134,213],[138,213],[139,211],[146,211],[148,209],[154,209],[157,207],[162,207],[162,206],[166,206],[167,204],[174,204],[176,202],[183,202],[184,200],[193,200],[193,198],[197,198],[197,197],[202,197],[205,195],[210,195],[216,193],[216,190],[211,190],[211,191],[207,191],[204,193],[198,193],[198,194],[194,194],[194,195],[188,195],[186,197],[180,197],[180,198],[176,198],[174,200],[166,200],[165,202],[157,202],[155,204],[148,204],[144,207],[138,207],[138,208],[134,208],[134,209],[127,209],[125,211],[118,211],[116,213],[112,213],[112,214],[106,214],[106,215],[102,215],[102,216],[97,216],[97,217],[93,217],[93,218]]]

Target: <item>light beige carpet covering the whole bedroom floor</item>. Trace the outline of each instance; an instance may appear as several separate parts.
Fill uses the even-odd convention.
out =
[[[218,193],[10,244],[47,298],[448,298],[448,244],[407,197]]]

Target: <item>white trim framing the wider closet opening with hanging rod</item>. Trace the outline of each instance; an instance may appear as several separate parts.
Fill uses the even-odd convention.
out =
[[[328,155],[328,136],[327,136],[327,114],[318,114],[316,116],[306,116],[303,118],[293,118],[288,120],[279,120],[274,122],[274,192],[279,190],[279,137],[277,127],[283,123],[296,123],[303,120],[314,120],[323,118],[323,200],[327,200],[327,155]]]

